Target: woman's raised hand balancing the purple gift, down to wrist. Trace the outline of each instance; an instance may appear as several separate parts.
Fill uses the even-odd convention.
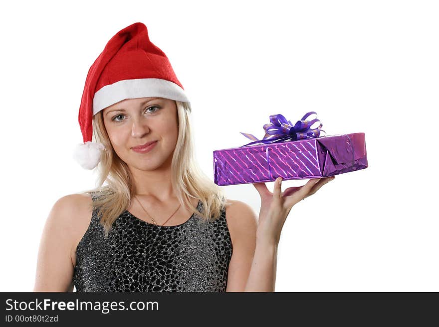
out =
[[[317,192],[335,176],[310,179],[305,185],[289,187],[281,192],[281,177],[276,178],[273,193],[268,191],[265,183],[253,183],[261,197],[257,239],[263,239],[277,245],[280,232],[291,208],[301,200]]]

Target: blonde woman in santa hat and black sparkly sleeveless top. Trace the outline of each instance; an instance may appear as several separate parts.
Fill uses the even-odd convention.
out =
[[[144,24],[107,43],[87,75],[79,109],[84,143],[75,156],[86,169],[100,163],[100,187],[54,204],[34,291],[274,291],[283,223],[329,179],[281,192],[278,178],[273,193],[253,184],[261,197],[257,219],[197,167],[190,112]]]

